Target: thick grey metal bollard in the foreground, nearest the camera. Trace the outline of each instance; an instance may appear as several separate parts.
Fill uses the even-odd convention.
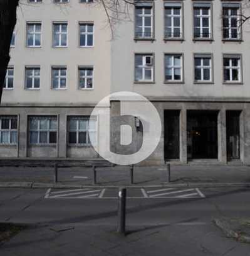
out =
[[[120,235],[126,234],[126,189],[121,187],[118,192],[118,228]]]

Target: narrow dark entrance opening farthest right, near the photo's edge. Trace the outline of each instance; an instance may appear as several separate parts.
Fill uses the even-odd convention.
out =
[[[240,159],[239,117],[241,111],[226,112],[227,159]]]

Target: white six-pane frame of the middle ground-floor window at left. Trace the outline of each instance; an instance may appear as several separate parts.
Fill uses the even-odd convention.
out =
[[[38,120],[38,129],[31,129],[30,121],[32,119]],[[47,128],[46,129],[41,129],[40,128],[40,121],[45,119],[47,121]],[[58,142],[58,118],[56,116],[29,116],[29,145],[56,145]],[[56,128],[49,128],[49,123],[50,120],[56,120]],[[37,142],[31,142],[31,132],[38,132],[38,140]],[[46,132],[47,133],[47,142],[39,142],[40,141],[40,133],[41,132]],[[56,142],[51,142],[49,143],[49,133],[50,132],[56,132]]]

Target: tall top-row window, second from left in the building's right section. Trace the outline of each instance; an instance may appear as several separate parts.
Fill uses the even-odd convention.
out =
[[[182,38],[182,4],[165,3],[165,39]]]

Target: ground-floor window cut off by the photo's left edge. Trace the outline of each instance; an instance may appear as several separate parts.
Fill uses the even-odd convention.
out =
[[[18,117],[0,116],[0,143],[13,144],[18,142]]]

